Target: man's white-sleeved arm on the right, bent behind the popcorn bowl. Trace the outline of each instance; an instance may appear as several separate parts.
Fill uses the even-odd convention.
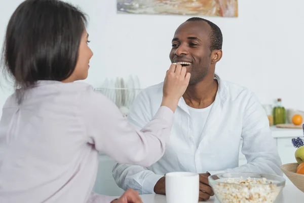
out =
[[[275,140],[269,127],[269,120],[257,97],[251,94],[243,117],[242,153],[247,164],[219,172],[258,172],[282,176],[282,164]]]

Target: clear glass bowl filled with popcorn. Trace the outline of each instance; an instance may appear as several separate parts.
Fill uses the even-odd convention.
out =
[[[285,186],[281,176],[262,173],[223,173],[208,177],[221,203],[274,202]]]

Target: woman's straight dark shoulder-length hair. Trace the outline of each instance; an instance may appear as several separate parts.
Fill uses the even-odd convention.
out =
[[[13,13],[3,47],[5,70],[16,88],[67,79],[74,71],[87,19],[58,0],[26,0]]]

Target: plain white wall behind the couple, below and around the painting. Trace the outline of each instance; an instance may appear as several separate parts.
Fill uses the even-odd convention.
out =
[[[20,0],[0,0],[0,39]],[[115,0],[72,0],[90,16],[94,56],[86,80],[138,75],[142,87],[159,83],[170,65],[177,26],[191,16],[117,14]],[[288,3],[287,3],[288,2]],[[304,12],[302,0],[239,0],[239,17],[206,17],[223,32],[223,58],[216,72],[254,91],[263,104],[282,97],[304,110]],[[0,106],[10,91],[0,90]],[[0,113],[1,115],[1,113]]]

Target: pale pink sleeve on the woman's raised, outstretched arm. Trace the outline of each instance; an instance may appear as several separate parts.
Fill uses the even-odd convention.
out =
[[[149,166],[165,152],[173,124],[173,112],[160,107],[154,118],[136,130],[109,99],[93,90],[81,106],[88,142],[119,163]]]

